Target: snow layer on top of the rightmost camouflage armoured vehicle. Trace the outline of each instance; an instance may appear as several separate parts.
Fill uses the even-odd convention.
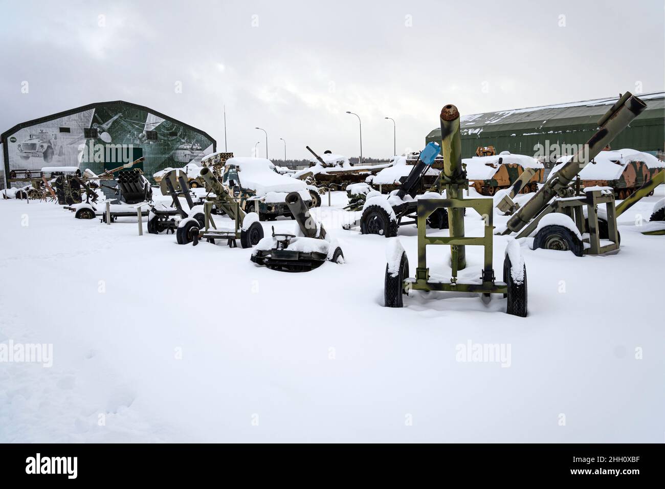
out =
[[[563,165],[569,162],[571,158],[573,158],[573,155],[561,156],[552,168],[550,176],[561,170]],[[601,151],[593,158],[592,163],[582,168],[579,176],[582,180],[616,180],[620,178],[624,168],[631,161],[642,161],[648,168],[665,168],[665,163],[652,154],[624,148],[622,150]]]

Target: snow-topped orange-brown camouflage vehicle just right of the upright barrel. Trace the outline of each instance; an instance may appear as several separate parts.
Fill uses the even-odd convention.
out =
[[[543,181],[545,166],[531,156],[510,154],[503,151],[493,156],[475,156],[465,158],[469,186],[485,196],[493,196],[498,190],[510,188],[525,168],[533,168],[535,174],[522,188],[521,193],[537,192],[538,184]]]

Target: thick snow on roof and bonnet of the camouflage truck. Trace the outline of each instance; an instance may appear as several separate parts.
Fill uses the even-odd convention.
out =
[[[229,165],[240,169],[238,178],[241,185],[256,192],[258,197],[263,197],[268,192],[296,192],[307,189],[303,180],[273,171],[273,162],[265,158],[236,156],[226,160],[225,166]]]

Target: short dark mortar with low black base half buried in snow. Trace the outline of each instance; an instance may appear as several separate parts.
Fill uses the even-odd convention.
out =
[[[298,234],[276,233],[259,242],[251,255],[251,261],[279,271],[309,271],[324,261],[344,263],[344,253],[331,240],[311,214],[298,192],[286,197],[287,206],[298,223]]]

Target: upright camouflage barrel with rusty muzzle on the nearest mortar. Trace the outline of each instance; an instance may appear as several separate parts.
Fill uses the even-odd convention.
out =
[[[460,111],[453,104],[441,109],[441,154],[444,156],[442,183],[446,185],[446,198],[464,198],[464,189],[468,186],[462,167],[462,138],[460,136]],[[464,236],[464,208],[448,209],[448,227],[451,237]],[[466,249],[457,246],[457,267],[466,268]]]

